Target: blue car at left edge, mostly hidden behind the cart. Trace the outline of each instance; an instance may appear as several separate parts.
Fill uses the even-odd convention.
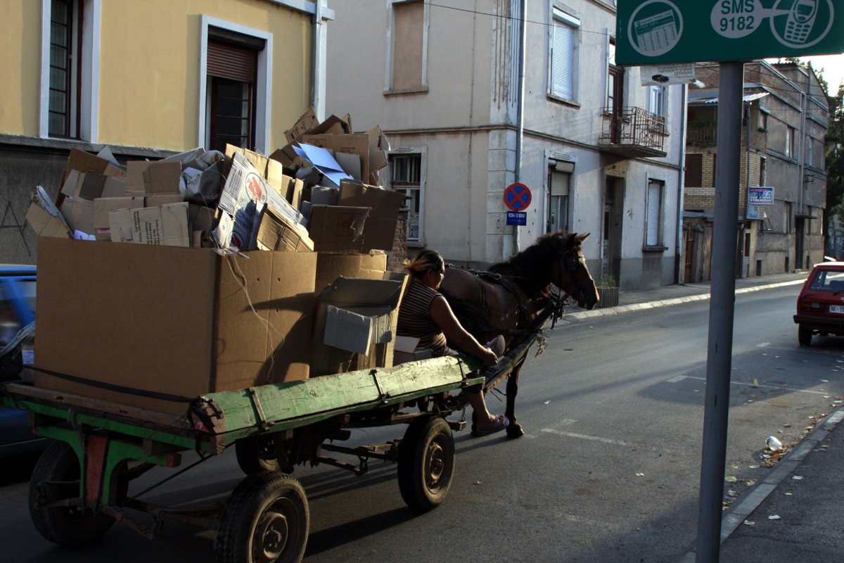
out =
[[[0,350],[12,341],[21,328],[35,320],[35,266],[0,264]],[[20,349],[8,352],[20,362]],[[17,370],[3,371],[4,381],[15,381]],[[34,452],[47,447],[46,438],[32,433],[26,413],[0,407],[0,457]]]

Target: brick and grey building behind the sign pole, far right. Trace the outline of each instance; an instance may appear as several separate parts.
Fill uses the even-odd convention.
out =
[[[684,279],[692,282],[711,279],[718,67],[702,65],[696,73],[706,87],[693,90],[688,104]],[[739,277],[794,272],[823,261],[828,123],[829,102],[811,69],[745,65]]]

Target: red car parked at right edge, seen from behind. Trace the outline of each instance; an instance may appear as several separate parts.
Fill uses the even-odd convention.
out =
[[[844,262],[814,267],[797,298],[798,341],[812,344],[814,334],[844,335]]]

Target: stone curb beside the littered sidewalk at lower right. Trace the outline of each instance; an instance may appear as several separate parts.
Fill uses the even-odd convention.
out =
[[[760,479],[755,485],[750,487],[747,492],[742,495],[741,500],[734,502],[723,512],[721,517],[721,543],[730,537],[730,534],[736,531],[741,526],[742,522],[750,516],[756,508],[765,501],[776,486],[782,483],[788,474],[791,474],[794,469],[798,468],[800,462],[814,450],[821,441],[824,441],[825,436],[834,430],[841,420],[844,420],[844,409],[838,409],[836,412],[830,414],[821,423],[815,425],[814,429],[800,441],[797,447],[794,447],[791,452],[788,452],[785,457],[776,463],[776,466],[766,475],[765,479]],[[680,555],[673,563],[695,563],[696,545],[692,544],[689,549]]]

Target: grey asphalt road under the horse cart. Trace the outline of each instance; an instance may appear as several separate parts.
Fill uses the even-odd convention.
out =
[[[798,291],[737,299],[727,456],[736,494],[765,474],[751,466],[760,465],[767,436],[798,441],[810,417],[829,413],[831,397],[844,394],[844,338],[798,346]],[[544,354],[522,371],[517,415],[527,435],[458,433],[452,490],[435,511],[404,506],[392,463],[373,462],[362,477],[296,468],[311,507],[305,561],[674,560],[696,533],[708,306],[597,317],[549,333]],[[503,411],[495,398],[488,403]],[[401,431],[360,431],[352,442]],[[0,482],[0,560],[214,560],[214,533],[179,522],[167,522],[152,543],[118,524],[89,548],[54,546],[30,523],[26,463],[15,463]],[[133,490],[155,478],[150,472]],[[147,500],[204,503],[241,478],[234,455],[215,457]]]

